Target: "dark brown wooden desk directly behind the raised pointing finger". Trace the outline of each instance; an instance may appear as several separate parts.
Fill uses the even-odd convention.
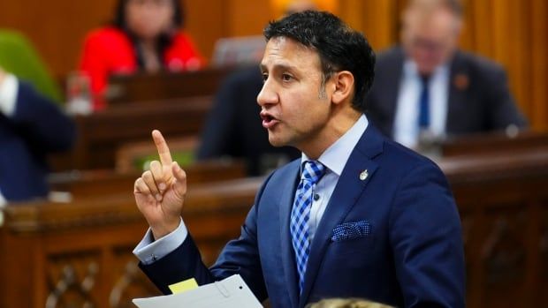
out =
[[[143,101],[77,116],[77,144],[71,153],[52,157],[53,169],[114,169],[118,148],[139,141],[152,143],[150,132],[154,129],[162,131],[168,141],[197,136],[211,103],[210,96]]]

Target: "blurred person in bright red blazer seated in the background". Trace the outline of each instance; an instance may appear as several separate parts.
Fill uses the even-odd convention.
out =
[[[110,74],[136,71],[193,71],[204,58],[183,26],[177,0],[119,0],[111,25],[91,31],[84,41],[79,69],[88,75],[94,109],[104,109]]]

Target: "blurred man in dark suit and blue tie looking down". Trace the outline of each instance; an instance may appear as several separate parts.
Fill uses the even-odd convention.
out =
[[[367,114],[405,146],[527,125],[503,68],[458,49],[462,10],[459,0],[410,0],[401,46],[377,58]]]

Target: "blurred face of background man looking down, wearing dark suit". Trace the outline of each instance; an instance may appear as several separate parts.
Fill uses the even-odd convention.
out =
[[[421,74],[429,75],[453,56],[460,34],[460,20],[438,8],[426,14],[409,9],[403,20],[402,44]]]

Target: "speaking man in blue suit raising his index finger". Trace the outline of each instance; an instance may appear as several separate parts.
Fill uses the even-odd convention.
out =
[[[405,307],[463,307],[460,220],[443,173],[385,139],[363,115],[375,56],[362,34],[327,12],[271,22],[257,97],[274,146],[300,160],[257,192],[241,236],[203,265],[180,218],[186,174],[153,131],[160,162],[135,181],[150,226],[135,248],[164,293],[240,274],[273,307],[365,297]]]

